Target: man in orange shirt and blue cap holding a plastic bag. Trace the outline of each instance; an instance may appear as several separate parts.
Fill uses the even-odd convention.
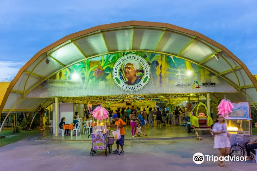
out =
[[[123,146],[124,146],[124,140],[125,140],[125,131],[124,131],[124,127],[126,126],[126,123],[118,118],[117,114],[113,115],[113,119],[116,121],[115,125],[108,125],[107,127],[114,127],[114,128],[118,128],[120,129],[120,133],[121,133],[121,139],[116,141],[117,144],[117,150],[114,151],[114,153],[119,153],[119,155],[123,155],[124,151],[123,151]],[[119,147],[121,145],[121,152],[119,151]]]

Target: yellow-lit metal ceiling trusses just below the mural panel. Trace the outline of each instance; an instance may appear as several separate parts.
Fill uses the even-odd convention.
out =
[[[135,94],[135,95],[104,95],[104,96],[81,96],[81,97],[58,97],[59,102],[63,103],[103,103],[103,102],[119,102],[119,103],[136,103],[136,101],[166,101],[167,103],[182,103],[187,101],[188,97],[190,100],[198,100],[206,98],[206,93],[182,93],[182,94]]]

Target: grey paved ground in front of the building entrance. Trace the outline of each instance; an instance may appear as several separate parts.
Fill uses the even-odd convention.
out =
[[[217,155],[213,139],[125,141],[125,154],[105,156],[99,150],[90,156],[91,142],[72,141],[19,141],[0,147],[1,171],[71,171],[71,170],[172,170],[172,171],[219,171],[254,170],[256,164],[247,162],[218,163],[204,161],[195,164],[196,152]],[[115,146],[113,146],[115,150]]]

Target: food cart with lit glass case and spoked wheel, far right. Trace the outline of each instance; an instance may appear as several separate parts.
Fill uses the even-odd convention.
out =
[[[245,144],[250,142],[251,118],[247,117],[224,117],[227,124],[227,130],[230,134],[231,156],[244,156]],[[250,158],[254,156],[250,153]]]

